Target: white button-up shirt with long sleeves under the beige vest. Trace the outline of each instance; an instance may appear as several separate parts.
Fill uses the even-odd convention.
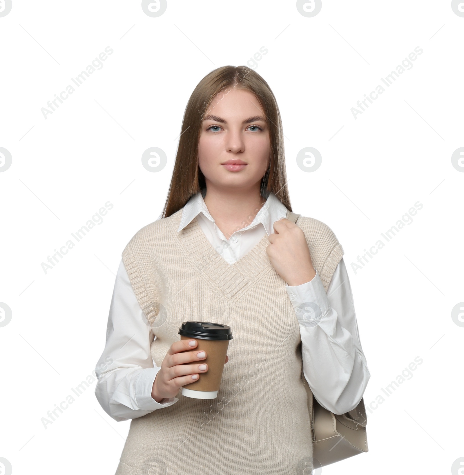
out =
[[[218,253],[233,264],[259,240],[274,232],[274,222],[287,209],[270,193],[250,224],[227,240],[209,214],[201,192],[182,211],[178,231],[194,218]],[[354,409],[364,394],[370,374],[361,348],[348,273],[341,259],[327,293],[316,269],[310,282],[285,285],[300,324],[303,374],[317,401],[335,414]],[[307,319],[300,305],[314,303],[322,311]],[[142,417],[175,404],[178,398],[152,398],[152,386],[161,367],[154,366],[150,345],[156,336],[146,323],[132,285],[120,262],[108,316],[106,344],[97,362],[95,395],[105,412],[117,421]],[[111,362],[112,361],[112,362]]]

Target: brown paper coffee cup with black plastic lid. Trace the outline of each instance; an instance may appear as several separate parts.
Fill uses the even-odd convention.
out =
[[[233,339],[230,327],[211,322],[182,322],[179,329],[181,340],[197,340],[198,345],[190,351],[204,350],[208,371],[199,373],[199,379],[182,387],[182,395],[196,399],[214,399],[218,396],[222,371],[226,362],[229,340]],[[189,348],[186,345],[186,348]],[[195,364],[194,362],[184,364]]]

